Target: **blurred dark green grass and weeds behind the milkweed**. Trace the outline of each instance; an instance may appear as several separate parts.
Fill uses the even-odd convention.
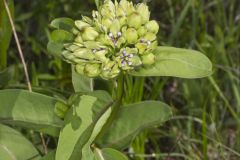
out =
[[[90,16],[96,9],[94,0],[14,2],[14,22],[33,89],[67,98],[73,92],[71,66],[46,50],[51,31],[49,23],[57,17]],[[197,80],[129,77],[133,85],[126,88],[125,103],[158,99],[171,105],[174,116],[160,128],[146,130],[138,136],[125,153],[136,160],[240,159],[240,1],[145,2],[150,6],[152,19],[159,22],[159,44],[203,52],[213,62],[214,73]],[[12,77],[0,87],[26,88],[13,38],[7,53],[8,72]],[[4,68],[0,73],[3,71]],[[102,83],[97,81],[96,88],[102,88]],[[25,130],[22,133],[39,145],[40,138],[34,137],[34,133]],[[48,147],[54,149],[56,143],[49,143]]]

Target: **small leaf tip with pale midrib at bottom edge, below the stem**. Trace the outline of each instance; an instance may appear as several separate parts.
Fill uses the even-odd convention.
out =
[[[112,148],[95,149],[96,160],[128,160],[121,152]]]

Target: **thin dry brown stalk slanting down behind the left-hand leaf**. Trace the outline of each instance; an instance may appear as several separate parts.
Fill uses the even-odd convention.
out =
[[[18,48],[18,53],[20,55],[20,58],[21,58],[21,61],[22,61],[22,64],[23,64],[23,69],[24,69],[24,73],[25,73],[25,77],[26,77],[26,81],[27,81],[27,85],[28,85],[28,90],[29,90],[29,92],[32,92],[32,85],[31,85],[31,82],[30,82],[27,65],[26,65],[26,62],[25,62],[25,59],[24,59],[24,56],[23,56],[23,52],[22,52],[22,48],[21,48],[21,45],[20,45],[20,42],[19,42],[19,39],[18,39],[16,28],[15,28],[14,23],[13,23],[13,18],[12,18],[12,15],[11,15],[11,12],[9,10],[9,7],[8,7],[8,4],[7,4],[6,0],[3,0],[3,2],[4,2],[4,5],[5,5],[5,9],[7,11],[7,14],[8,14],[8,18],[9,18],[11,27],[12,27],[14,39],[16,41],[17,48]],[[44,153],[47,154],[47,152],[48,152],[47,151],[47,145],[46,145],[46,142],[44,140],[44,137],[43,137],[42,133],[40,133],[40,137],[41,137],[41,141],[42,141],[42,144],[43,144]]]

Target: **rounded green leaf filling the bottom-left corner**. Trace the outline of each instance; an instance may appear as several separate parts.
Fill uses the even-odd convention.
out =
[[[2,160],[37,160],[40,155],[33,144],[18,131],[0,124],[0,155]]]

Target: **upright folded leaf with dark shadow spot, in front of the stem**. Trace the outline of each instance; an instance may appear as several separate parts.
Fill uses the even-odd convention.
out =
[[[74,102],[60,133],[56,160],[91,160],[90,146],[111,113],[112,99],[104,91],[83,93]]]

